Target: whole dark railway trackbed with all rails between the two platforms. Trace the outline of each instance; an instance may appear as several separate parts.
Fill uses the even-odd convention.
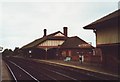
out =
[[[81,82],[81,80],[109,80],[98,77],[95,74],[70,67],[52,65],[43,62],[35,62],[22,58],[4,59],[7,66],[12,70],[11,74],[15,80],[33,80],[41,82],[43,80],[63,80]]]

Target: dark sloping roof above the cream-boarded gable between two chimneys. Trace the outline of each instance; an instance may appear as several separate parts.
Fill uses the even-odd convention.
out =
[[[36,39],[35,41],[33,41],[33,42],[31,42],[31,43],[23,46],[22,49],[24,49],[24,48],[36,47],[36,46],[38,46],[40,43],[42,43],[42,42],[44,42],[44,41],[46,41],[46,40],[65,40],[65,39],[67,38],[66,36],[64,36],[64,37],[62,37],[62,36],[61,36],[61,37],[60,37],[60,36],[54,36],[54,35],[56,35],[56,34],[58,34],[58,33],[63,34],[62,32],[57,31],[57,32],[55,32],[55,33],[49,34],[49,35],[44,36],[44,37],[42,37],[42,38]],[[63,34],[63,35],[64,35],[64,34]]]

